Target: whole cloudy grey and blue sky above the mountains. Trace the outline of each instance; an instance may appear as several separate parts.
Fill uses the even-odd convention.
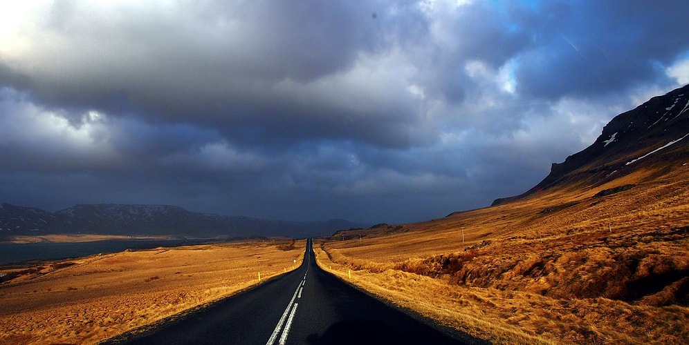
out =
[[[399,223],[689,83],[679,1],[6,1],[0,201]]]

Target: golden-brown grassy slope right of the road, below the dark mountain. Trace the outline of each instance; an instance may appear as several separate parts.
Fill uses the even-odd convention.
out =
[[[315,250],[353,284],[492,342],[687,344],[688,235],[689,166],[678,165]]]

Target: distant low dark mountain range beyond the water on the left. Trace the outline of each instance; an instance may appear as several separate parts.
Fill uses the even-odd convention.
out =
[[[38,208],[0,204],[0,237],[57,233],[307,237],[329,235],[336,230],[361,226],[344,219],[304,222],[228,217],[195,213],[178,206],[167,205],[76,205],[51,213]]]

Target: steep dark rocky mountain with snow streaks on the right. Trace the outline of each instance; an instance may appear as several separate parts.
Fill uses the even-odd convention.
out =
[[[493,205],[558,186],[600,186],[640,168],[659,168],[680,161],[689,161],[689,85],[617,115],[594,144],[553,164],[550,174],[539,184],[522,195],[496,199]]]

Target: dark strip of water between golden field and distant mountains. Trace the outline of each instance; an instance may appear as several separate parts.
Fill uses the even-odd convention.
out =
[[[117,253],[127,249],[172,247],[199,243],[201,242],[184,239],[113,239],[76,243],[38,242],[27,244],[0,244],[0,265],[14,264],[34,259],[64,259],[68,257],[84,257],[98,253]]]

